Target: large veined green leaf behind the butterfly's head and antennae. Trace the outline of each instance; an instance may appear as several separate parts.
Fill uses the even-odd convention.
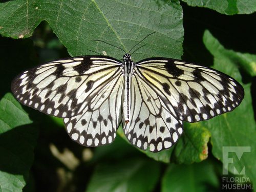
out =
[[[180,58],[182,55],[182,8],[164,1],[9,1],[0,4],[0,33],[13,38],[29,37],[47,20],[71,56],[90,50],[122,58],[123,52],[94,39],[120,46],[128,52],[146,35],[145,46],[134,60],[150,56]]]

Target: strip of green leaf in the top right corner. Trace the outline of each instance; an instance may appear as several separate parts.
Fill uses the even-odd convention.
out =
[[[251,0],[182,0],[189,6],[205,7],[218,11],[219,13],[233,14],[250,14],[256,11],[256,1]]]

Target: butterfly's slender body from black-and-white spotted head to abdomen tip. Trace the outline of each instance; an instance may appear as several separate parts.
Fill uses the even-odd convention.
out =
[[[124,67],[124,98],[123,98],[123,117],[125,123],[130,121],[131,111],[131,80],[134,62],[131,59],[131,55],[126,53],[123,55],[123,67]]]

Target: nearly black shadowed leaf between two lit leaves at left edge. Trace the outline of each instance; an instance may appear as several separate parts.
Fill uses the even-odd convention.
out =
[[[28,176],[34,159],[38,129],[32,124],[15,127],[0,134],[0,170]]]

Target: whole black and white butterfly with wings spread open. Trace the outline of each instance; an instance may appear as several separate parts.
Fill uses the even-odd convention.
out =
[[[70,137],[84,146],[112,143],[120,123],[127,139],[159,152],[176,143],[182,121],[232,111],[243,87],[214,69],[170,58],[133,62],[80,56],[19,74],[11,89],[19,102],[64,118]]]

